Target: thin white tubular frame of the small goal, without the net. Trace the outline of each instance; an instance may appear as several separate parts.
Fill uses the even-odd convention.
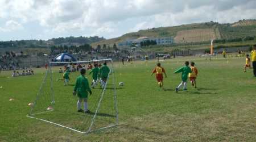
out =
[[[32,110],[34,109],[34,107],[36,106],[36,102],[39,100],[39,95],[40,95],[40,91],[42,90],[42,87],[43,87],[43,84],[45,83],[46,81],[46,78],[48,75],[50,75],[50,81],[51,81],[51,99],[52,99],[52,104],[54,106],[54,103],[55,103],[55,99],[54,99],[54,91],[53,91],[53,80],[52,80],[52,69],[51,69],[51,65],[52,64],[70,64],[70,63],[76,63],[76,64],[79,64],[79,63],[83,63],[83,64],[88,64],[88,63],[91,63],[91,62],[102,62],[102,61],[110,61],[111,62],[111,67],[110,67],[110,72],[109,72],[109,75],[108,75],[108,80],[106,81],[106,85],[104,86],[104,89],[102,90],[101,92],[101,97],[100,97],[100,100],[97,102],[98,105],[97,105],[97,108],[96,108],[96,111],[94,113],[94,116],[92,118],[92,121],[90,123],[90,126],[89,126],[89,129],[85,132],[82,132],[82,131],[79,131],[79,130],[76,130],[74,128],[71,128],[71,127],[67,127],[67,126],[64,126],[62,124],[59,124],[59,123],[55,123],[55,122],[51,122],[49,120],[45,120],[45,119],[41,119],[41,118],[37,118],[35,115],[36,114],[43,114],[43,113],[47,113],[47,112],[50,112],[50,111],[54,111],[54,107],[52,108],[52,110],[49,110],[49,111],[42,111],[42,112],[38,112],[38,113],[35,113],[35,114],[32,114]],[[108,85],[108,81],[109,81],[109,77],[110,77],[110,74],[113,74],[113,87],[114,87],[114,109],[115,109],[115,123],[110,125],[110,126],[106,126],[106,127],[101,127],[101,128],[97,128],[96,130],[92,130],[92,126],[93,126],[93,123],[94,123],[94,120],[96,119],[96,116],[97,116],[97,113],[98,113],[98,110],[100,109],[100,105],[101,105],[101,101],[102,101],[102,98],[104,97],[104,93],[105,93],[105,90],[106,90],[106,86]],[[67,128],[69,130],[72,130],[72,131],[75,131],[75,132],[79,132],[79,133],[90,133],[90,132],[96,132],[96,131],[100,131],[100,130],[104,130],[106,128],[112,128],[112,127],[115,127],[118,125],[118,107],[117,107],[117,92],[116,92],[116,87],[115,87],[115,76],[114,76],[114,64],[113,64],[113,60],[112,59],[102,59],[102,60],[91,60],[91,61],[73,61],[73,62],[49,62],[49,68],[46,72],[46,76],[44,77],[43,79],[43,82],[39,88],[39,91],[38,91],[38,94],[36,95],[36,100],[34,102],[34,105],[31,107],[31,111],[29,114],[27,114],[27,117],[28,118],[34,118],[34,119],[37,119],[37,120],[42,120],[43,122],[47,122],[47,123],[51,123],[51,124],[55,124],[56,126],[60,126],[60,127],[63,127],[63,128]]]

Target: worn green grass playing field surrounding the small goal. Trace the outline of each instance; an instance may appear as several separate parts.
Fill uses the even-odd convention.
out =
[[[199,70],[197,86],[175,92],[181,74],[172,74],[185,60],[195,61]],[[29,102],[35,100],[45,69],[35,69],[35,76],[9,77],[0,73],[0,141],[255,141],[256,78],[252,70],[243,73],[245,59],[180,57],[162,62],[168,78],[165,91],[150,76],[156,61],[121,65],[115,62],[115,77],[125,83],[118,87],[118,127],[82,135],[40,120],[27,118]],[[55,68],[56,72],[57,68]],[[42,74],[43,73],[43,74]],[[60,77],[59,73],[53,76]],[[71,74],[71,84],[77,73]],[[88,77],[90,80],[90,77]],[[76,97],[73,86],[54,82],[56,107],[73,111]],[[100,89],[93,89],[89,105]],[[9,101],[14,98],[14,101]],[[66,99],[66,100],[64,100]],[[110,103],[110,102],[109,102]],[[70,106],[69,106],[70,105]],[[54,111],[53,111],[54,112]],[[72,118],[69,114],[52,114],[52,119]],[[76,118],[69,119],[74,124]]]

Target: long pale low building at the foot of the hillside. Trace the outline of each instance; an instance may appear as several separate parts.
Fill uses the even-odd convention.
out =
[[[118,48],[131,47],[131,45],[141,45],[142,41],[146,40],[154,40],[157,45],[171,45],[174,44],[174,37],[146,37],[142,36],[138,39],[130,39],[123,42],[118,43]]]

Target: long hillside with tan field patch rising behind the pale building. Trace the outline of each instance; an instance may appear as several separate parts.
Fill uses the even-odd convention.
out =
[[[240,20],[235,23],[219,24],[216,22],[184,24],[174,27],[159,27],[138,32],[131,32],[113,39],[92,43],[92,47],[98,44],[113,46],[114,43],[137,39],[138,37],[174,37],[175,43],[195,43],[209,41],[210,39],[236,39],[238,37],[256,36],[256,20]]]

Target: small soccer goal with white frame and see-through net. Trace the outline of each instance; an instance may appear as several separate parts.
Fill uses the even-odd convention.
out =
[[[110,72],[106,85],[100,85],[92,90],[88,97],[90,113],[77,112],[77,96],[72,95],[73,86],[80,72],[71,72],[71,80],[67,86],[59,80],[58,70],[67,64],[103,64],[107,62]],[[92,81],[90,70],[86,69],[89,83]],[[100,82],[98,82],[100,83]],[[117,126],[118,108],[115,87],[115,73],[112,59],[76,61],[76,62],[49,62],[49,68],[44,75],[38,94],[27,117],[55,124],[79,133],[89,133]]]

